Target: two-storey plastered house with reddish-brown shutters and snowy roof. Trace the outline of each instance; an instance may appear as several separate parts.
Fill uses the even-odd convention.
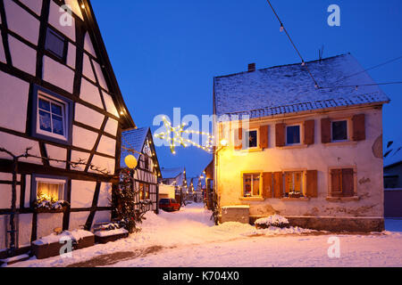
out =
[[[387,102],[350,54],[215,77],[222,220],[280,214],[307,228],[382,231]]]

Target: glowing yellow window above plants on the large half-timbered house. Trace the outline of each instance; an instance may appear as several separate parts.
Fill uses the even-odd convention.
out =
[[[64,199],[65,180],[36,178],[37,199],[59,201]]]

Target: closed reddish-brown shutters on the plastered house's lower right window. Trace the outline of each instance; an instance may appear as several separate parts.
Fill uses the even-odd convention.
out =
[[[331,197],[355,196],[355,169],[331,169]]]

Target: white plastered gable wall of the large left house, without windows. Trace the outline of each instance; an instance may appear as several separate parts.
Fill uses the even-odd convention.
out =
[[[17,155],[30,147],[29,154],[38,157],[70,161],[83,159],[88,165],[95,165],[109,175],[99,174],[90,167],[73,167],[63,162],[51,161],[47,164],[42,159],[20,159],[18,183],[22,178],[24,180],[24,184],[17,187],[17,208],[24,213],[20,216],[20,244],[29,243],[31,238],[46,236],[55,227],[79,228],[88,222],[91,211],[99,212],[93,223],[110,220],[110,181],[120,155],[120,151],[116,151],[120,149],[117,138],[123,122],[114,95],[116,92],[109,90],[110,82],[105,79],[105,62],[96,53],[93,35],[89,35],[88,18],[81,12],[77,0],[66,3],[74,12],[71,26],[60,23],[63,9],[59,1],[51,0],[49,5],[42,0],[4,0],[0,3],[3,35],[0,37],[0,97],[4,102],[0,111],[0,147]],[[47,21],[41,22],[42,12],[48,12]],[[40,38],[46,37],[46,28],[49,27],[67,41],[65,62],[56,61],[45,51],[45,40]],[[36,112],[32,108],[34,85],[72,102],[72,126],[68,126],[71,128],[71,143],[54,142],[31,134],[32,113]],[[0,250],[5,247],[2,218],[11,208],[10,159],[8,154],[0,152]],[[67,179],[71,212],[34,213],[30,208],[36,198],[30,197],[31,174],[37,172],[62,175]],[[25,195],[23,205],[20,203],[21,186]],[[100,187],[99,191],[96,191],[97,187]],[[95,199],[97,208],[91,209]],[[32,227],[36,231],[32,231]],[[31,236],[31,232],[36,234]]]

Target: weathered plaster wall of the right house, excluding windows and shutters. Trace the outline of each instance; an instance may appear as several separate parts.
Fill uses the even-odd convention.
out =
[[[362,142],[321,143],[321,118],[351,118],[365,114],[366,139]],[[275,124],[314,119],[313,145],[275,147]],[[334,110],[289,118],[267,118],[250,122],[250,128],[269,125],[269,147],[264,151],[234,151],[233,146],[218,152],[216,187],[221,207],[249,205],[252,218],[280,214],[288,217],[379,218],[384,215],[381,135],[381,108]],[[233,137],[233,130],[230,136]],[[303,137],[303,134],[302,134]],[[380,158],[378,158],[380,157]],[[355,167],[358,200],[328,200],[329,168]],[[242,198],[242,173],[317,170],[318,197],[311,199]],[[331,222],[330,222],[331,223]]]

